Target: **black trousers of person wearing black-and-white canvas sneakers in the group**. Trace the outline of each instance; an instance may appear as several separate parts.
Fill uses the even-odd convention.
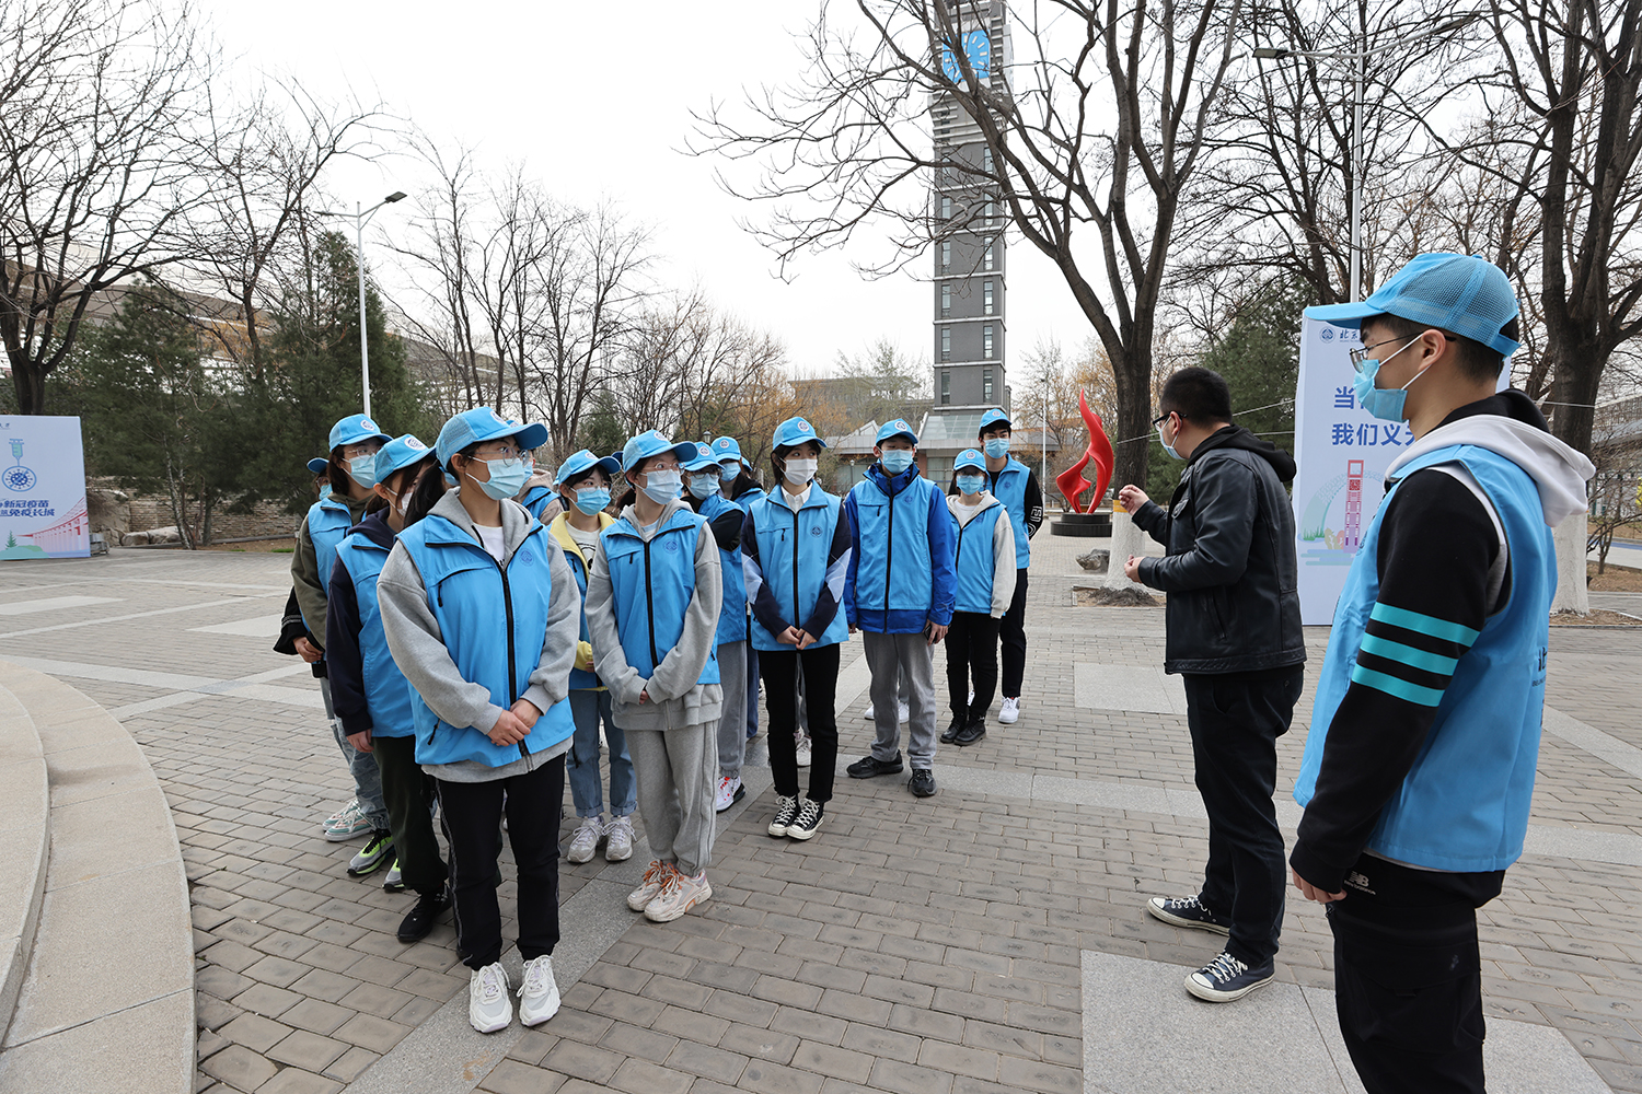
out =
[[[837,645],[795,650],[760,650],[759,671],[764,672],[764,705],[770,712],[770,774],[775,792],[798,797],[798,669],[805,674],[805,717],[810,720],[810,800],[832,800],[832,776],[837,768]]]

